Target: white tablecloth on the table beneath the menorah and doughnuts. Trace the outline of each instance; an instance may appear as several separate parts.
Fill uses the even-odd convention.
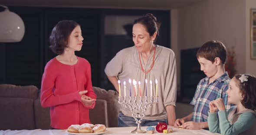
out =
[[[142,127],[142,129],[146,130],[147,127]],[[200,129],[200,130],[187,130],[187,129],[177,129],[173,126],[168,126],[168,128],[172,128],[173,132],[167,135],[220,135],[218,133],[211,133],[208,130]],[[136,127],[125,127],[125,128],[107,128],[107,132],[102,135],[136,135],[131,133],[132,130],[135,130]],[[0,130],[0,135],[69,135],[66,133],[66,130]],[[149,135],[139,134],[139,135]],[[155,131],[154,135],[165,135],[163,133],[158,133]]]

